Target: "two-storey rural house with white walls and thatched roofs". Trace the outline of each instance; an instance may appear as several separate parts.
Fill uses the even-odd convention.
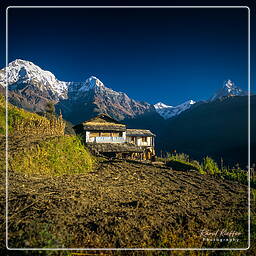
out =
[[[127,129],[114,118],[100,114],[73,127],[94,152],[110,157],[149,160],[155,155],[155,135],[149,130]]]

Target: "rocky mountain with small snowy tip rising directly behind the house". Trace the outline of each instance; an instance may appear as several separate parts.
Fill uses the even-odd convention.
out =
[[[60,101],[56,107],[62,110],[64,118],[73,123],[84,121],[97,113],[123,120],[154,110],[149,103],[135,101],[123,92],[106,87],[95,76],[88,78],[85,83],[71,83],[68,99]]]

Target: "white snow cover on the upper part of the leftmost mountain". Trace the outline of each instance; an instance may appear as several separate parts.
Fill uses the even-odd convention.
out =
[[[7,71],[7,77],[6,77]],[[19,84],[32,84],[41,91],[49,91],[60,99],[67,97],[67,82],[59,81],[51,72],[41,69],[30,61],[16,59],[7,68],[0,70],[0,85],[8,86],[11,90]]]

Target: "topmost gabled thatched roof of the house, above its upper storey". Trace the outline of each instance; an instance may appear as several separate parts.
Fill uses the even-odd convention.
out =
[[[125,131],[126,126],[106,114],[100,114],[74,126],[74,129],[83,129],[86,131]]]

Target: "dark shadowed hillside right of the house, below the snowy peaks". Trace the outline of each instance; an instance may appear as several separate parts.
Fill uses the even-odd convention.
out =
[[[256,162],[256,96],[251,97],[251,160]],[[205,155],[230,164],[247,164],[248,98],[228,97],[198,105],[167,120],[159,144],[194,158]]]

